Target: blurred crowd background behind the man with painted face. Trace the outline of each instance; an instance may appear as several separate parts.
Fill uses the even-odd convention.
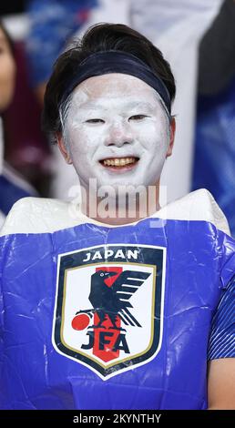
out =
[[[41,132],[46,81],[73,38],[113,22],[148,36],[176,76],[162,205],[209,189],[235,234],[235,0],[2,1],[0,20],[0,224],[15,200],[67,199],[77,184]]]

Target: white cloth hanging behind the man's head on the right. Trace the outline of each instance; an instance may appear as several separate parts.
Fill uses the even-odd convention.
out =
[[[177,115],[175,147],[161,178],[161,186],[167,187],[164,196],[167,194],[168,201],[182,197],[190,189],[199,40],[221,3],[221,0],[132,2],[133,26],[159,47],[176,78],[177,96],[172,111]]]

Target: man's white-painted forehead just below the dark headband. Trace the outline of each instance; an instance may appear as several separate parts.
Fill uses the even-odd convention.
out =
[[[80,107],[93,107],[95,104],[111,99],[133,102],[148,100],[152,105],[158,103],[158,94],[147,83],[135,76],[110,73],[102,76],[89,77],[80,83],[73,92],[73,101]]]

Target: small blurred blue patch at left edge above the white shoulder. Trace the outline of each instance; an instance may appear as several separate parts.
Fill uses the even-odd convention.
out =
[[[30,194],[25,189],[16,186],[15,183],[4,175],[0,175],[0,210],[5,215],[8,214],[16,200],[28,196],[30,196]]]

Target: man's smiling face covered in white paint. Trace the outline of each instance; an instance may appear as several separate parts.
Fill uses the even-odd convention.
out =
[[[155,185],[169,148],[157,92],[134,76],[90,77],[74,91],[64,138],[81,184]]]

